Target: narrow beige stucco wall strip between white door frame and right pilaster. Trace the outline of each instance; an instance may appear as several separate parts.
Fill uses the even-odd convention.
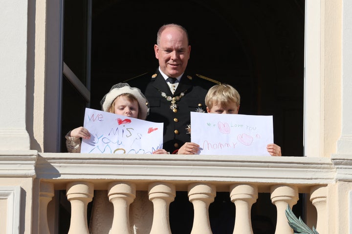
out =
[[[341,0],[322,3],[321,129],[324,157],[336,153],[336,142],[341,135],[341,11]]]

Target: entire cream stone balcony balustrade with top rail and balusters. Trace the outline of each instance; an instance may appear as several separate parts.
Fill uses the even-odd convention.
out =
[[[336,174],[330,158],[317,157],[39,153],[35,168],[40,180],[39,233],[45,234],[50,233],[47,206],[55,190],[66,190],[71,205],[69,234],[88,234],[87,206],[94,190],[108,191],[113,205],[110,234],[138,233],[130,220],[136,191],[146,191],[153,203],[153,221],[146,224],[150,234],[171,234],[169,206],[176,191],[188,191],[193,204],[191,234],[212,233],[208,210],[217,192],[228,192],[234,203],[234,234],[253,234],[251,207],[259,193],[270,193],[276,206],[275,234],[293,233],[285,210],[297,203],[300,193],[309,195],[317,212],[314,226],[325,234],[327,186]]]

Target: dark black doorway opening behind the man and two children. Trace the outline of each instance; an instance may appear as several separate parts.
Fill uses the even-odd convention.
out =
[[[101,109],[99,102],[113,84],[154,72],[156,32],[162,24],[178,23],[190,36],[188,72],[234,86],[241,95],[239,114],[272,115],[274,142],[283,156],[303,156],[304,0],[92,0],[91,9],[90,108]],[[65,46],[69,49],[67,44],[64,41],[64,51]],[[70,97],[65,92],[72,87],[65,85],[63,96]],[[64,134],[83,125],[84,104],[82,108],[72,105],[71,109],[63,102]],[[81,119],[81,124],[65,121],[67,109],[77,109],[76,116],[82,118],[76,120]],[[65,152],[65,144],[62,149]],[[224,197],[228,200],[227,194]],[[220,194],[218,200],[223,202]],[[300,195],[294,206],[301,217],[303,200]],[[275,207],[266,194],[260,195],[258,203],[269,208],[275,222]],[[230,205],[227,209],[233,209]],[[252,209],[253,215],[262,215],[258,206]],[[232,229],[232,223],[227,228]]]

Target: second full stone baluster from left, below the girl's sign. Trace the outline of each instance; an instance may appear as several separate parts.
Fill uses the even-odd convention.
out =
[[[114,207],[110,234],[130,234],[129,211],[135,198],[136,187],[132,183],[112,182],[109,184],[109,200]]]

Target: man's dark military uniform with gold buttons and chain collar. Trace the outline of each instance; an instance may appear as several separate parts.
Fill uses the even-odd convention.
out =
[[[143,74],[125,82],[139,88],[148,99],[150,114],[147,120],[164,123],[163,148],[170,153],[191,140],[186,130],[187,125],[191,124],[190,112],[195,112],[198,108],[206,112],[205,95],[210,87],[220,83],[200,75],[190,76],[185,72],[172,94],[158,69],[155,74]],[[173,98],[176,108],[170,108]]]

